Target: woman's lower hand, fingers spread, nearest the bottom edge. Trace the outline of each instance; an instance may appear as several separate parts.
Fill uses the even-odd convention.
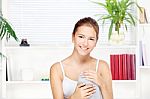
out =
[[[74,94],[69,99],[88,99],[95,91],[96,88],[92,84],[78,84]]]

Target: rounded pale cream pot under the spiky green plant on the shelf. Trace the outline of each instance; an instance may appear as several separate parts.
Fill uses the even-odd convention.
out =
[[[125,35],[123,31],[120,31],[119,34],[117,31],[112,32],[110,36],[109,43],[112,45],[122,45],[125,41]]]

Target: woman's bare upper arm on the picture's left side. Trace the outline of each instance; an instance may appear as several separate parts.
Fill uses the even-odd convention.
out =
[[[64,99],[62,88],[63,74],[59,63],[56,63],[50,68],[50,85],[53,94],[53,99]]]

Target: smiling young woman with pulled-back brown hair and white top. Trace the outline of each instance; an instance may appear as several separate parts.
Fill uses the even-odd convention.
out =
[[[90,56],[96,46],[98,35],[99,26],[91,17],[80,19],[75,24],[72,33],[72,54],[50,68],[50,84],[54,99],[90,99],[96,92],[101,99],[113,99],[108,64],[104,60]],[[92,84],[78,83],[80,76]]]

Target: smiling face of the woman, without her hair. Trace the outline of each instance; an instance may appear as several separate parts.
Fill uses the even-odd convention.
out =
[[[80,55],[88,55],[96,46],[96,32],[93,27],[80,26],[73,36],[75,49]]]

